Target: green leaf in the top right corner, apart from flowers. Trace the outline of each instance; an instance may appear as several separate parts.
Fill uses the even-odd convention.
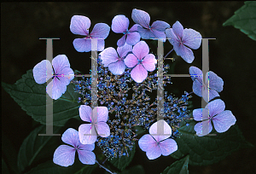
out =
[[[234,26],[249,38],[256,40],[256,2],[247,1],[223,26]]]

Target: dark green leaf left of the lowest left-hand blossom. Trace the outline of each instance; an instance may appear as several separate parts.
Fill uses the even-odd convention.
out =
[[[61,145],[61,136],[38,136],[45,134],[45,131],[46,126],[40,125],[22,142],[18,155],[20,171],[29,170],[33,165],[53,159],[55,149]],[[62,133],[61,127],[54,127],[54,133]]]

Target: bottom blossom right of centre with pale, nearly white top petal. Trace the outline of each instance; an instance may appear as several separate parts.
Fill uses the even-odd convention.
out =
[[[163,132],[161,132],[163,129]],[[139,147],[146,152],[148,159],[157,159],[160,155],[167,156],[177,150],[177,143],[169,138],[172,129],[165,120],[160,119],[149,128],[149,134],[142,136]]]

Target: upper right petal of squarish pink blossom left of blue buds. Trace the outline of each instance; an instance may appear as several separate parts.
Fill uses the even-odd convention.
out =
[[[108,120],[108,107],[94,107],[92,111],[93,123],[98,123],[100,121],[107,122],[107,120]]]

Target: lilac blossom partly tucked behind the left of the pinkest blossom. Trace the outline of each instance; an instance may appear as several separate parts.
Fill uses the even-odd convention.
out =
[[[104,49],[102,53],[100,53],[104,67],[108,67],[109,71],[113,73],[113,75],[121,75],[125,72],[125,56],[131,50],[132,46],[130,44],[118,47],[117,52],[113,47]]]

